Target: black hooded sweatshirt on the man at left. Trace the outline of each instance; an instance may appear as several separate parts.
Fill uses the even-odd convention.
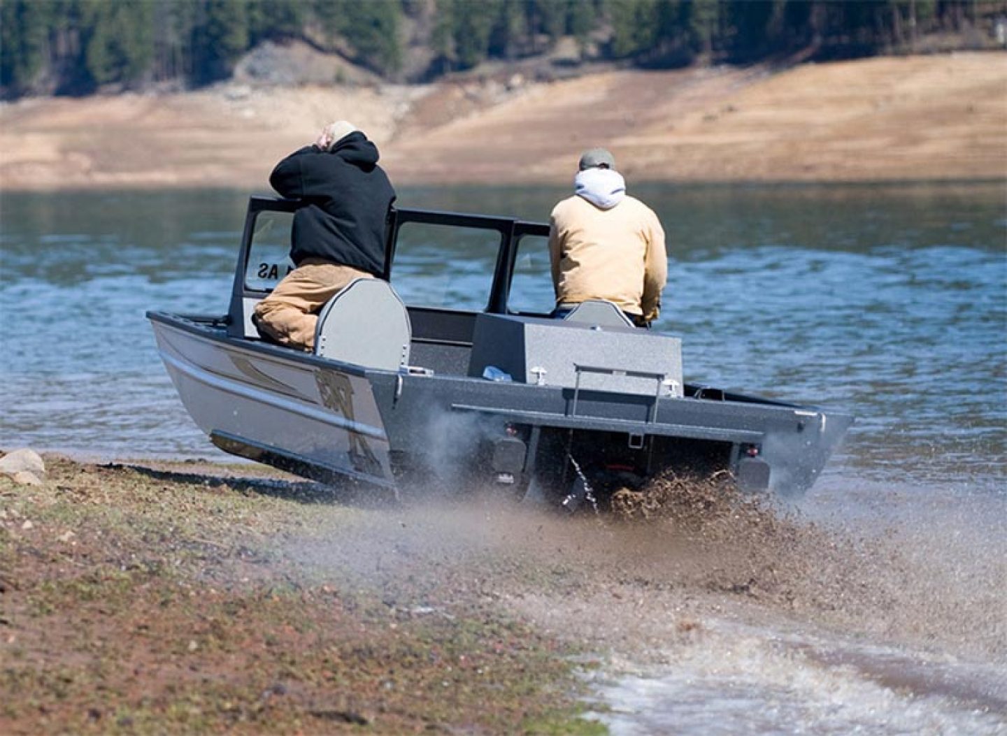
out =
[[[395,189],[378,165],[378,148],[359,131],[331,151],[307,146],[280,161],[269,183],[303,199],[294,215],[290,258],[321,258],[374,276],[385,271],[385,226]]]

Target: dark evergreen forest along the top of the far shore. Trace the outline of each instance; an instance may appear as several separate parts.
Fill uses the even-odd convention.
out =
[[[417,82],[549,54],[667,68],[984,48],[1005,26],[1007,0],[0,0],[0,95],[190,89],[264,41]]]

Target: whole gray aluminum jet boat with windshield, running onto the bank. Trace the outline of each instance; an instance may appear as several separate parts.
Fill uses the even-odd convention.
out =
[[[299,206],[251,198],[227,314],[147,313],[186,410],[227,452],[396,493],[489,483],[569,500],[613,474],[727,471],[796,494],[853,421],[686,383],[680,338],[611,303],[550,318],[548,226],[510,217],[393,210],[383,278],[325,305],[313,352],[272,344],[251,314],[292,268]]]

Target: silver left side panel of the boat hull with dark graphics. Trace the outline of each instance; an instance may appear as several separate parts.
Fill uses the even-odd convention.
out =
[[[184,318],[152,323],[182,404],[222,449],[307,477],[394,487],[388,436],[362,372],[242,344]]]

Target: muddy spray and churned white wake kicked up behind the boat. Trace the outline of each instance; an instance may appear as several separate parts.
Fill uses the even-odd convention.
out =
[[[614,734],[1007,733],[1007,498],[822,485],[781,507],[668,477],[574,517],[445,495],[293,554],[587,643]]]

